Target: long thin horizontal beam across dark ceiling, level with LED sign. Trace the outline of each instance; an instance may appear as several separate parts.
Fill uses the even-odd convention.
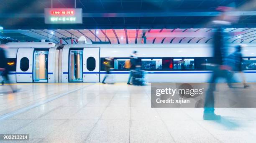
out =
[[[221,12],[121,12],[121,13],[83,13],[83,17],[195,17],[218,16]],[[256,11],[227,12],[227,15],[251,16]],[[44,18],[44,13],[0,13],[0,18]]]

